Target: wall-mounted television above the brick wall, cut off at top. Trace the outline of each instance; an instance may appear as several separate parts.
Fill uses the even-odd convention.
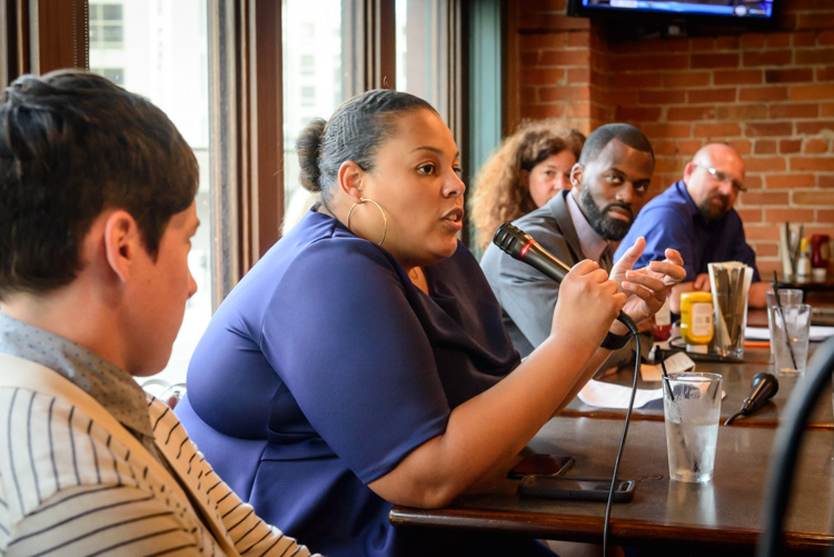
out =
[[[731,26],[773,29],[781,0],[569,0],[568,14],[624,23]]]

